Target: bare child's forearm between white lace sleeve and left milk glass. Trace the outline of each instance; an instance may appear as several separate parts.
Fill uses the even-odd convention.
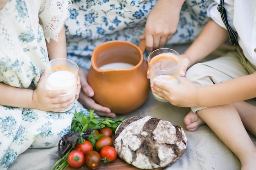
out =
[[[46,44],[49,60],[54,58],[67,58],[65,27],[63,26],[60,33],[58,33],[58,42],[51,39],[50,42],[46,42]]]

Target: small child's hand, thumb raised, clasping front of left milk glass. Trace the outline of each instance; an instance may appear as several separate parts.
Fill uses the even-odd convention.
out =
[[[43,73],[38,86],[33,92],[34,108],[52,112],[65,110],[73,103],[72,95],[60,96],[66,93],[66,90],[47,90],[45,87],[45,73]]]

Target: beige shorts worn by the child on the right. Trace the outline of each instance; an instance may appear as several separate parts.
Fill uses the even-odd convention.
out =
[[[186,71],[186,78],[195,86],[207,86],[252,74],[256,67],[239,50],[231,51],[222,57],[193,65]],[[211,96],[209,96],[210,98]],[[195,113],[206,107],[192,107]]]

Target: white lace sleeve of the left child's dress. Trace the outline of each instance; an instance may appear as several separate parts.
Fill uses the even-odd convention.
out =
[[[45,0],[45,6],[40,7],[40,24],[43,27],[45,39],[50,38],[58,42],[58,33],[63,28],[65,20],[70,16],[70,0]]]

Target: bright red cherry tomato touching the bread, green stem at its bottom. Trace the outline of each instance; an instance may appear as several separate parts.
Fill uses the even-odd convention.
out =
[[[101,158],[103,158],[104,163],[108,163],[117,158],[117,150],[112,146],[105,146],[101,149],[100,155]]]

